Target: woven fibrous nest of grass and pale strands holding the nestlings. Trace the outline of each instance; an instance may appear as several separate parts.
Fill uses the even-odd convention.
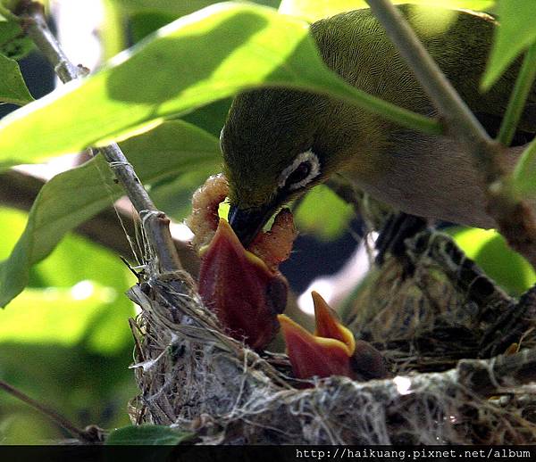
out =
[[[393,373],[364,383],[333,376],[304,388],[284,355],[259,355],[224,334],[187,274],[146,275],[130,290],[141,308],[131,323],[140,390],[132,421],[177,426],[203,444],[536,442],[536,291],[510,299],[434,236],[408,244],[411,265],[387,260],[360,298],[367,306],[349,315]],[[392,296],[379,296],[386,287]],[[389,342],[378,342],[380,326]],[[521,351],[490,357],[520,335]]]

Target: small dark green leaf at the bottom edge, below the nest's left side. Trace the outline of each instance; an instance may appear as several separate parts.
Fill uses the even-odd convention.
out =
[[[191,438],[193,433],[180,432],[165,425],[130,425],[108,435],[107,445],[176,446]]]

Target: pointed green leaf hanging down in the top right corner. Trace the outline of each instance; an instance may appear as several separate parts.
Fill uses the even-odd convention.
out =
[[[495,32],[490,61],[482,77],[482,89],[488,90],[515,58],[536,40],[536,2],[533,0],[500,0],[500,27]]]

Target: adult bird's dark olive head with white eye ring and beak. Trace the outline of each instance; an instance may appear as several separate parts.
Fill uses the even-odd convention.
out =
[[[281,205],[340,169],[348,145],[340,128],[349,124],[330,123],[337,108],[324,96],[287,89],[235,98],[221,145],[230,225],[244,245]]]

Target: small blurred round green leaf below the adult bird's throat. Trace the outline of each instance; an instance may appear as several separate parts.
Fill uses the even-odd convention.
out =
[[[328,186],[316,186],[306,195],[296,211],[296,224],[300,229],[324,240],[339,237],[354,216],[350,204],[333,193]]]

